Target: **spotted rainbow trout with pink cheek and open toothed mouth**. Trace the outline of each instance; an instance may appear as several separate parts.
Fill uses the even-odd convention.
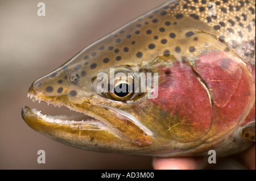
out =
[[[81,116],[25,106],[23,119],[89,150],[160,157],[245,150],[255,141],[255,1],[216,2],[216,16],[211,2],[165,3],[32,83],[31,99]]]

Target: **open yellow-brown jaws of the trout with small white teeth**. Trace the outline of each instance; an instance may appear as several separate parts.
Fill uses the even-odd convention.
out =
[[[108,111],[112,119],[115,117],[114,120],[109,121],[96,113],[81,111],[68,104],[40,98],[36,92],[29,91],[28,97],[33,102],[46,102],[48,105],[67,107],[71,111],[78,112],[71,116],[51,116],[27,106],[22,108],[24,121],[35,131],[53,140],[82,149],[114,153],[147,150],[147,147],[152,144],[151,135],[148,135],[141,125],[137,125],[134,120],[128,118],[129,116],[125,117],[111,108],[88,104],[88,106]],[[120,125],[123,125],[123,128]],[[144,146],[144,149],[141,146]]]

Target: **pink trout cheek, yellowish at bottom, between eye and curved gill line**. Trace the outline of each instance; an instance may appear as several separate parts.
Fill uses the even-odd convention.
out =
[[[205,88],[183,62],[175,62],[172,74],[162,69],[158,98],[151,102],[170,112],[166,132],[178,142],[200,140],[212,125],[212,107]]]

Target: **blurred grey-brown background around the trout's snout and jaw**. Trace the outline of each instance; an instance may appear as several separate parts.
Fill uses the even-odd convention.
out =
[[[151,157],[97,153],[53,141],[28,127],[20,111],[27,105],[51,113],[46,104],[27,98],[35,79],[165,1],[0,0],[0,169],[152,169]],[[39,2],[46,4],[46,16],[37,15]],[[39,165],[41,149],[46,164]]]

